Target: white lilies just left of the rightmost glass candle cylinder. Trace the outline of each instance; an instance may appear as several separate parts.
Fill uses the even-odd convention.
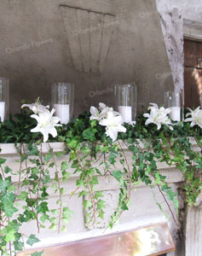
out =
[[[152,107],[149,107],[150,113],[144,113],[143,116],[147,118],[145,125],[155,124],[157,125],[157,130],[161,128],[161,125],[168,125],[170,130],[173,130],[171,126],[171,120],[168,117],[168,113],[170,113],[169,108],[159,108],[157,104],[150,103]]]

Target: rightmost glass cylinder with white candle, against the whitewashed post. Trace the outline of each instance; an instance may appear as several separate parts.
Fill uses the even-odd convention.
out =
[[[183,121],[184,119],[184,94],[183,90],[165,91],[164,107],[170,108],[170,119],[172,121]]]

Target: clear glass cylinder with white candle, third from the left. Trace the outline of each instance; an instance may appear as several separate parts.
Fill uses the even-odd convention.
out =
[[[136,120],[136,84],[116,84],[114,88],[115,105],[124,123]]]

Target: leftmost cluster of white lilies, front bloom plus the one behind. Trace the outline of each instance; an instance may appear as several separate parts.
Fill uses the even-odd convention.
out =
[[[43,106],[39,101],[32,104],[23,104],[21,108],[30,108],[34,114],[31,115],[32,119],[38,121],[38,125],[31,130],[31,132],[41,132],[43,134],[43,143],[46,143],[49,139],[49,134],[52,137],[57,136],[56,126],[61,126],[58,124],[60,122],[59,117],[53,116],[55,113],[55,108],[49,112],[49,106]]]

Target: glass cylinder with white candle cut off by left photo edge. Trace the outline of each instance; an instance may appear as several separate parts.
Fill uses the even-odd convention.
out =
[[[3,122],[9,116],[9,79],[0,78],[0,119]]]

